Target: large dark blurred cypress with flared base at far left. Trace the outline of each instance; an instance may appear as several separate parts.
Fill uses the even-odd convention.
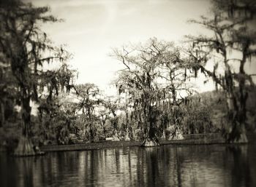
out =
[[[4,111],[3,98],[15,98],[13,101],[20,106],[22,136],[14,154],[35,155],[39,150],[31,142],[30,104],[39,103],[43,97],[51,100],[59,89],[66,88],[69,92],[72,72],[65,61],[70,55],[62,47],[53,47],[47,34],[39,28],[39,23],[58,21],[48,14],[48,7],[34,7],[18,0],[0,3],[0,73],[4,78],[1,79],[1,111]],[[43,66],[49,63],[58,63],[61,68],[45,70]],[[3,125],[4,114],[1,114]]]

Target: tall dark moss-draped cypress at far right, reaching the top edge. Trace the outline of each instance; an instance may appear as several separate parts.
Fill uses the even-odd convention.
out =
[[[203,25],[211,31],[208,36],[187,36],[192,41],[189,51],[195,71],[200,70],[212,77],[217,87],[225,92],[227,127],[224,135],[227,142],[246,143],[246,100],[249,86],[254,85],[252,76],[244,66],[256,55],[255,21],[256,3],[248,1],[213,1],[212,17],[202,16],[192,23]],[[236,57],[240,56],[240,57]],[[214,70],[206,64],[215,60]],[[238,71],[236,67],[238,66]],[[224,72],[218,74],[218,67]]]

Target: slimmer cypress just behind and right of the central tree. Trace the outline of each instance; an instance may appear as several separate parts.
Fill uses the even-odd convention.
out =
[[[186,105],[190,97],[195,92],[187,83],[187,80],[194,78],[192,65],[187,58],[187,54],[182,52],[181,47],[171,47],[160,63],[162,69],[159,76],[165,79],[165,100],[162,100],[162,125],[174,127],[173,135],[170,139],[183,139],[180,126],[186,114]]]

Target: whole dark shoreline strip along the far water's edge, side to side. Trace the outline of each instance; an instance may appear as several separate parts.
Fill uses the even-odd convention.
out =
[[[249,143],[254,142],[255,140],[255,132],[247,133],[247,138]],[[43,154],[37,154],[34,156],[44,155],[48,152],[59,152],[59,151],[91,151],[91,150],[99,150],[105,148],[124,148],[124,147],[141,147],[143,141],[111,141],[105,140],[101,142],[95,143],[78,143],[78,144],[69,144],[69,145],[48,145],[48,146],[40,146],[40,151]],[[246,143],[226,143],[225,139],[222,137],[220,133],[206,133],[206,134],[192,134],[192,135],[184,135],[184,140],[159,140],[160,146],[173,145],[173,146],[192,146],[192,145],[226,145],[226,146],[238,146],[244,145]],[[0,152],[6,152],[5,148],[0,148]]]

